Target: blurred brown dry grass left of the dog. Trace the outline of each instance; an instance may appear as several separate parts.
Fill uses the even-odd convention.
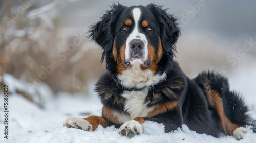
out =
[[[13,6],[12,1],[7,1],[0,21],[1,75],[9,73],[34,84],[35,88],[40,82],[45,82],[56,93],[83,92],[89,81],[95,80],[104,72],[104,66],[100,63],[102,51],[95,48],[88,39],[82,39],[70,52],[69,44],[74,44],[77,36],[65,36],[59,19],[50,19],[54,27],[49,27],[44,17],[28,18],[33,10],[29,8],[13,20],[9,12]],[[6,18],[10,18],[11,24]],[[47,73],[42,67],[52,70],[49,69],[51,72]]]

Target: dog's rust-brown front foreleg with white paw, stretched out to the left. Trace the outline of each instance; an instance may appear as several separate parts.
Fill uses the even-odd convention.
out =
[[[106,128],[108,124],[108,121],[99,116],[89,116],[87,118],[70,117],[63,122],[63,125],[67,128],[77,128],[84,131],[95,131],[98,125]]]

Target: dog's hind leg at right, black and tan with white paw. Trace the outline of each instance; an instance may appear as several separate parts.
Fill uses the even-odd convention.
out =
[[[202,73],[195,81],[204,90],[209,105],[214,108],[220,118],[220,128],[227,135],[241,139],[245,125],[253,125],[251,117],[246,114],[248,107],[241,96],[229,90],[228,80],[215,73]]]

